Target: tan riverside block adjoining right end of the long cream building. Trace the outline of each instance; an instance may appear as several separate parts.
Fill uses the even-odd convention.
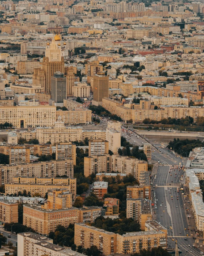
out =
[[[61,116],[65,124],[91,124],[91,110],[76,108],[75,110],[56,111],[56,118]]]

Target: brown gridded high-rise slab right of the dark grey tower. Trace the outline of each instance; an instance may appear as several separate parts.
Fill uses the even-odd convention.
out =
[[[108,97],[108,77],[98,72],[93,76],[93,100],[95,106],[102,106],[102,98]]]

